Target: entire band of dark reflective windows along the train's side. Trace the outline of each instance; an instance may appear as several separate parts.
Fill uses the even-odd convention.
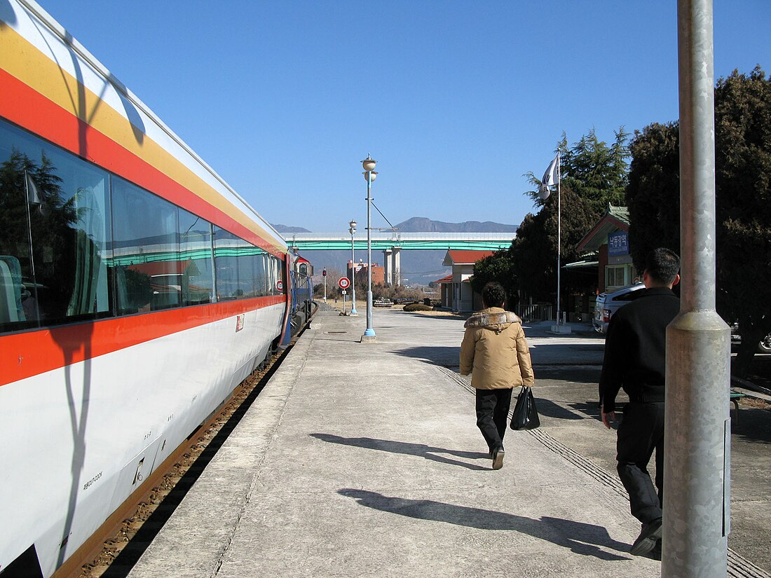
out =
[[[281,260],[0,120],[0,332],[280,294]]]

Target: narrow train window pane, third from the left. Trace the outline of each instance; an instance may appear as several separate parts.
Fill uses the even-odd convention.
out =
[[[179,279],[182,304],[210,303],[214,297],[211,224],[187,210],[179,212],[180,260],[184,264]]]

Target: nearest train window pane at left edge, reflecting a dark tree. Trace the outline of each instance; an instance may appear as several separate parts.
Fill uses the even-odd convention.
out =
[[[110,314],[107,182],[0,122],[0,331]]]

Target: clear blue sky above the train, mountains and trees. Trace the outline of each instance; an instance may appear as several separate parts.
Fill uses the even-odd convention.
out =
[[[557,141],[678,118],[675,0],[40,0],[271,223],[377,206],[517,225]],[[771,72],[771,2],[715,2],[715,79]],[[373,211],[373,227],[384,226]]]

